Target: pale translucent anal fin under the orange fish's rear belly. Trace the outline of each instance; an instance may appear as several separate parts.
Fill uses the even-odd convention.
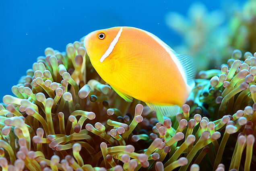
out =
[[[153,103],[146,104],[157,113],[160,113],[166,117],[175,116],[180,111],[180,106],[178,105],[157,105]]]

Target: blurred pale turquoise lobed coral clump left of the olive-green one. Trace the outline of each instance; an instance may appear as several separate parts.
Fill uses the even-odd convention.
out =
[[[169,12],[165,17],[167,26],[184,39],[182,44],[174,45],[173,49],[193,56],[198,64],[198,71],[219,66],[225,62],[219,56],[232,52],[226,48],[227,33],[221,27],[224,21],[225,14],[221,10],[209,12],[200,2],[194,2],[190,6],[188,17],[178,12]]]

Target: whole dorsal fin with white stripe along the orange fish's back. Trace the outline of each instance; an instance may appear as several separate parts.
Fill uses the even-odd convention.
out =
[[[142,29],[139,30],[147,33],[149,36],[151,36],[153,39],[155,39],[155,41],[157,41],[160,45],[162,45],[165,48],[166,52],[170,54],[171,58],[178,66],[178,69],[180,70],[184,80],[192,89],[195,85],[194,78],[196,76],[195,60],[191,56],[185,54],[178,54],[173,49],[171,49],[171,47],[169,47],[165,42],[159,39],[159,37],[157,37],[156,35]]]

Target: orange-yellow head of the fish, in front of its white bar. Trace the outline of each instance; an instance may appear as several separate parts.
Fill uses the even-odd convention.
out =
[[[112,27],[97,30],[85,36],[84,45],[92,64],[103,64],[105,62],[102,60],[102,57],[106,56],[107,50],[118,34],[118,31],[120,31],[120,28]]]

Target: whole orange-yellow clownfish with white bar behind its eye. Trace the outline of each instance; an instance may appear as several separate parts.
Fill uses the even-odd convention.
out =
[[[171,117],[192,88],[196,68],[191,56],[178,54],[157,36],[134,27],[112,27],[85,36],[91,64],[127,102],[144,101]]]

